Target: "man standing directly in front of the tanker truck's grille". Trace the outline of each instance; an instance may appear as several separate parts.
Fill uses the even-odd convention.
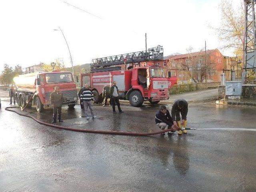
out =
[[[56,123],[56,117],[58,112],[58,122],[63,122],[61,120],[61,107],[64,101],[63,94],[60,92],[60,87],[56,86],[54,92],[51,93],[50,103],[53,106],[53,118],[52,123]]]

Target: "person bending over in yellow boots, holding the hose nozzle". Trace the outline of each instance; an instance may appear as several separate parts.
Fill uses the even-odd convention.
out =
[[[188,102],[184,99],[177,99],[174,101],[172,105],[172,119],[174,125],[177,125],[179,128],[183,126],[187,127],[187,114],[188,114]],[[182,122],[180,122],[180,114],[182,116]],[[187,130],[179,130],[178,134],[181,135],[183,133],[187,133]]]

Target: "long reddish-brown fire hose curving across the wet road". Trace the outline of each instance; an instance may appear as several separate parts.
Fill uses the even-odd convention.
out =
[[[34,95],[34,94],[33,94]],[[32,96],[33,96],[32,95]],[[30,97],[30,99],[28,100],[28,103],[30,102],[32,96]],[[28,103],[26,104],[26,106],[28,105]],[[11,106],[11,107],[6,107],[5,110],[7,111],[11,111],[11,112],[15,112],[16,114],[19,114],[21,116],[25,116],[25,117],[29,117],[32,118],[33,120],[35,120],[36,122],[38,122],[39,124],[42,125],[46,125],[46,126],[50,126],[50,127],[54,127],[54,128],[58,128],[58,129],[64,129],[64,130],[70,130],[70,131],[77,131],[77,132],[87,132],[87,133],[101,133],[101,134],[115,134],[115,135],[132,135],[132,136],[149,136],[149,135],[156,135],[156,134],[161,134],[161,133],[165,133],[165,132],[169,132],[172,131],[172,129],[166,129],[166,130],[160,130],[160,131],[156,131],[156,132],[150,132],[150,133],[140,133],[140,132],[124,132],[124,131],[110,131],[110,130],[89,130],[89,129],[78,129],[78,128],[72,128],[72,127],[65,127],[65,126],[60,126],[60,125],[55,125],[55,124],[50,124],[50,123],[46,123],[43,121],[38,120],[37,118],[28,115],[28,114],[22,114],[21,112],[18,112],[16,110],[12,110],[11,108],[21,108],[21,110],[23,111],[26,106],[24,108],[22,107],[18,107],[18,106]],[[196,128],[182,128],[181,130],[196,130]]]

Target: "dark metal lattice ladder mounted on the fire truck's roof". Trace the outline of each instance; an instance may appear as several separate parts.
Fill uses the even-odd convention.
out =
[[[108,56],[92,60],[91,71],[97,71],[100,68],[110,68],[111,66],[138,63],[144,61],[163,60],[164,49],[162,46],[149,48],[147,51],[138,51],[121,55]],[[112,68],[112,67],[111,67]]]

